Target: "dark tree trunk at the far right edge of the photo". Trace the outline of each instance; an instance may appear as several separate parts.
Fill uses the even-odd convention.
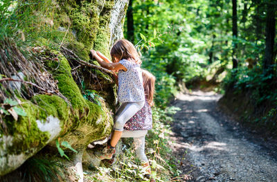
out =
[[[274,65],[274,38],[276,31],[275,11],[275,3],[267,3],[267,24],[265,30],[265,60],[263,62],[263,73],[265,73],[265,75],[274,73],[272,66]]]

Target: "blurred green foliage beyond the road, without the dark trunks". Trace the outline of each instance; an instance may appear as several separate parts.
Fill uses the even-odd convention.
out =
[[[148,46],[140,46],[139,50],[143,67],[157,77],[155,99],[160,107],[165,107],[170,96],[177,92],[179,82],[188,85],[193,80],[209,81],[223,67],[219,80],[226,75],[222,84],[225,91],[233,87],[235,93],[244,92],[253,98],[257,107],[270,102],[273,104],[269,107],[275,108],[276,37],[274,73],[268,75],[262,68],[267,8],[274,1],[237,3],[238,37],[233,37],[231,0],[132,1],[134,44],[143,42]],[[128,33],[125,21],[126,38],[131,37]],[[237,46],[234,56],[238,59],[235,70],[232,69],[234,45]],[[269,111],[269,120],[276,119],[271,115],[277,109]]]

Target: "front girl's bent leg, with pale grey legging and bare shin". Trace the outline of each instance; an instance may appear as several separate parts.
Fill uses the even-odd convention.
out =
[[[123,127],[127,120],[132,118],[136,114],[137,111],[143,108],[144,101],[142,102],[124,102],[120,105],[118,111],[116,112],[115,124],[114,124],[114,132],[111,135],[110,145],[111,147],[115,147],[118,143],[118,140],[121,137]]]

